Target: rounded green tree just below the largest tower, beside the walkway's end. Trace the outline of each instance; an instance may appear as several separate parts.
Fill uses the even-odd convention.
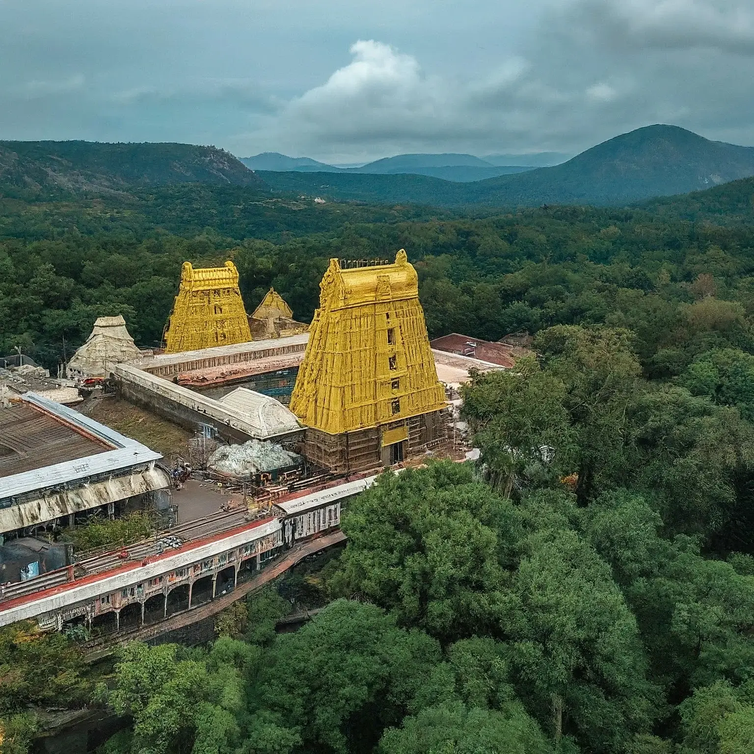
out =
[[[345,513],[353,547],[333,578],[441,640],[493,630],[519,523],[509,501],[456,464],[383,474]]]

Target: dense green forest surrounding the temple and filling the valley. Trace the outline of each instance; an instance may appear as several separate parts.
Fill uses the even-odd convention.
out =
[[[751,182],[713,192],[477,216],[191,185],[3,200],[0,351],[51,368],[98,315],[157,345],[186,259],[234,259],[247,309],[272,285],[308,320],[329,257],[401,247],[431,336],[526,329],[536,356],[464,388],[478,464],[349,504],[297,632],[274,590],[211,645],[104,671],[75,636],[0,631],[0,751],[86,704],[124,721],[102,754],[754,751]]]

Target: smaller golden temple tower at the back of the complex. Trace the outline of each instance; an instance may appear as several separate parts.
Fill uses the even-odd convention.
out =
[[[191,262],[183,262],[178,296],[163,339],[168,354],[251,340],[233,262],[197,269]]]

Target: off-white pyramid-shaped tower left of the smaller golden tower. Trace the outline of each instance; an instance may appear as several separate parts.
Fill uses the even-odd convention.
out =
[[[126,320],[99,317],[87,342],[73,354],[68,363],[69,377],[107,377],[115,364],[134,363],[141,359],[133,338],[126,329]]]

